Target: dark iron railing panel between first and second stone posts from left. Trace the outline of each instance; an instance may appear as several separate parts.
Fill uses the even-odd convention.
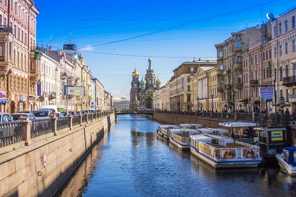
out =
[[[52,132],[52,119],[37,119],[31,123],[31,137],[37,137]]]

